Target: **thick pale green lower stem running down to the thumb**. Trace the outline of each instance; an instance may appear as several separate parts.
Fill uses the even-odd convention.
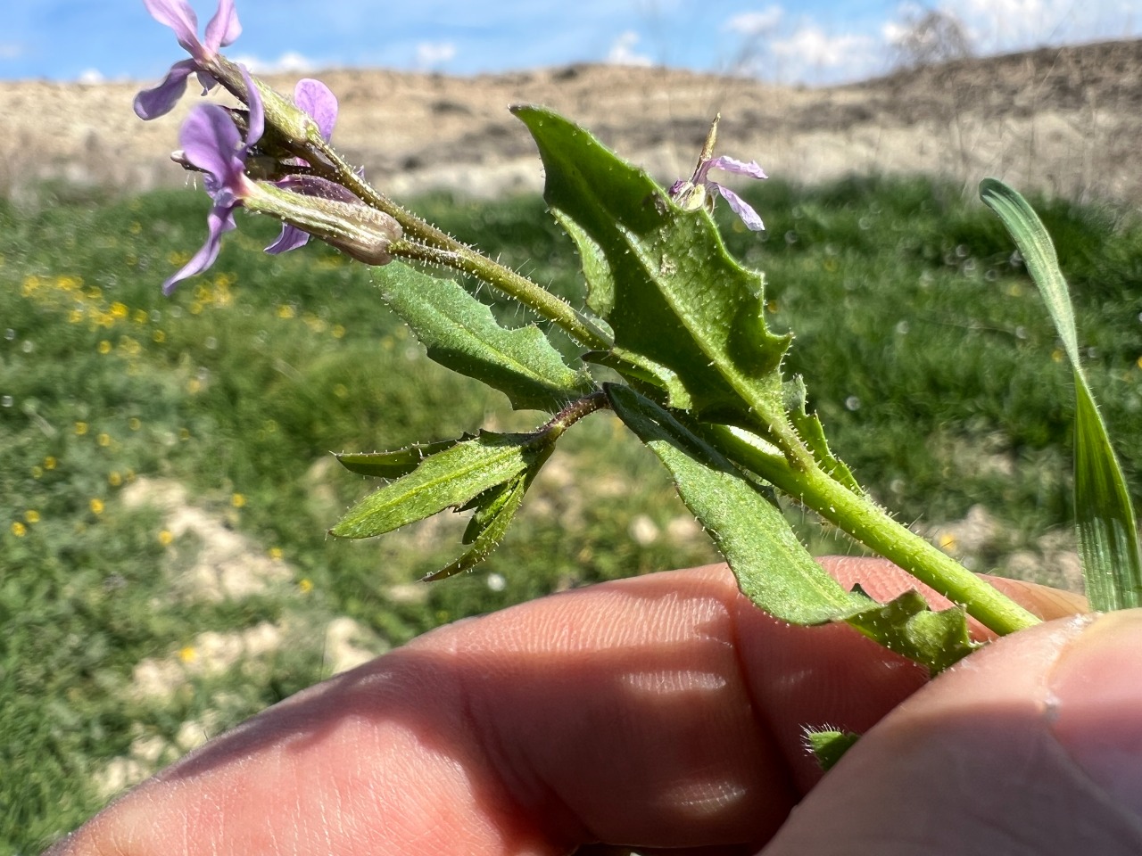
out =
[[[831,478],[815,463],[795,469],[775,447],[739,428],[711,426],[714,441],[733,460],[836,524],[860,543],[902,567],[1000,636],[1039,619],[999,593],[915,532],[893,520],[863,494]]]

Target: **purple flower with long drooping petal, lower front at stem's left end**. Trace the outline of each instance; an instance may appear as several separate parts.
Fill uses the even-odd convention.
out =
[[[200,274],[218,258],[222,236],[234,228],[234,209],[251,192],[246,177],[246,159],[262,139],[265,114],[262,96],[246,68],[242,76],[250,94],[250,116],[246,142],[242,142],[230,111],[217,104],[200,104],[183,123],[179,142],[185,160],[203,172],[203,184],[214,201],[207,215],[207,242],[178,273],[162,284],[162,293],[170,294],[183,280]]]

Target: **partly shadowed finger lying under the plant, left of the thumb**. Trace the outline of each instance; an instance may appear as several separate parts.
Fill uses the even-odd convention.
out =
[[[877,595],[907,584],[883,563],[835,570]],[[306,691],[59,853],[763,842],[814,781],[790,761],[790,724],[862,730],[922,683],[845,628],[758,613],[724,566],[625,580],[459,622]]]

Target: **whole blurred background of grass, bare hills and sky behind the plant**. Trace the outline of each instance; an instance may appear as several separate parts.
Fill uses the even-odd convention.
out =
[[[238,10],[227,55],[284,92],[324,80],[335,145],[380,189],[573,300],[577,258],[507,106],[561,110],[664,183],[721,111],[719,153],[771,178],[740,188],[764,233],[716,213],[766,274],[771,326],[796,333],[788,371],[834,450],[968,567],[1075,588],[1069,370],[975,200],[1005,178],[1054,236],[1142,498],[1142,3]],[[460,515],[327,536],[375,487],[330,452],[542,415],[428,361],[367,268],[262,253],[265,219],[240,213],[214,267],[162,297],[206,236],[206,194],[169,161],[199,96],[148,123],[130,102],[182,56],[142,3],[23,3],[0,37],[0,854],[441,623],[717,559],[606,413],[561,442],[472,574],[416,582],[458,554]],[[859,551],[788,516],[814,552]]]

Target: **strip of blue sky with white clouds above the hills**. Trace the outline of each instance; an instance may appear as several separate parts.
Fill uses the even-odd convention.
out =
[[[216,0],[191,0],[204,26]],[[0,79],[158,81],[184,56],[142,0],[10,0]],[[978,53],[1132,38],[1142,0],[946,0]],[[236,0],[226,54],[255,71],[384,66],[451,74],[574,62],[662,64],[782,83],[884,72],[898,0]]]

